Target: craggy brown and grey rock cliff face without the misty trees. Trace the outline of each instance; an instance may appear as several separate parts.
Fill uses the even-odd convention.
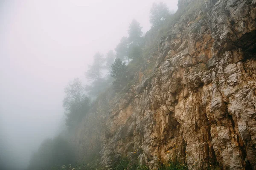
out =
[[[178,6],[134,83],[99,99],[98,124],[90,126],[97,133],[88,120],[80,125],[80,156],[98,148],[108,166],[114,154],[140,150],[140,163],[151,168],[171,159],[189,169],[256,169],[256,0]],[[145,39],[152,37],[149,31]]]

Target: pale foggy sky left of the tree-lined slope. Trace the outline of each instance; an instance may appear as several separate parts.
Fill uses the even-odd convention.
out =
[[[114,50],[155,0],[0,0],[0,159],[24,169],[64,119],[64,87],[95,52]],[[177,0],[162,0],[170,11]],[[8,162],[9,161],[9,162]],[[6,167],[5,167],[6,168]]]

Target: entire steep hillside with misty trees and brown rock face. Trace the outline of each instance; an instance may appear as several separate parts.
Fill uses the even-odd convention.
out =
[[[256,169],[256,1],[154,3],[65,88],[28,170]],[[108,34],[108,33],[106,33]]]

